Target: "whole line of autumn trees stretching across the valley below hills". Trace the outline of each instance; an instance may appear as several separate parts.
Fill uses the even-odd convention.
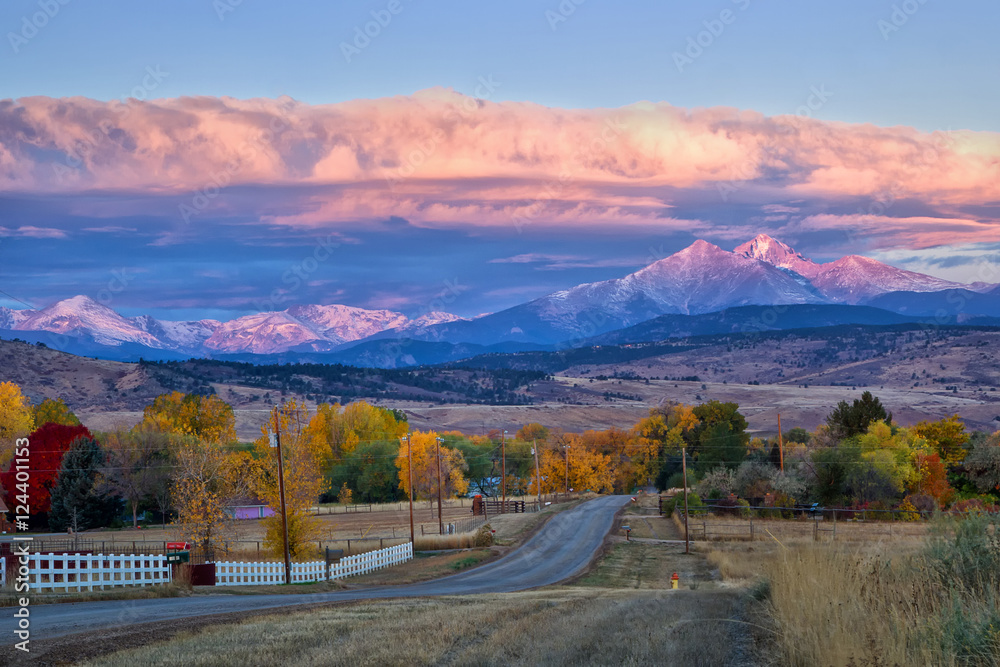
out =
[[[449,497],[503,488],[508,495],[675,488],[683,452],[696,504],[909,511],[995,509],[1000,502],[1000,434],[969,433],[957,416],[901,427],[869,392],[841,402],[814,432],[784,433],[779,450],[777,438],[748,432],[737,404],[719,401],[656,407],[628,429],[570,433],[530,423],[471,435],[411,431],[404,413],[364,401],[310,409],[290,400],[258,438],[240,442],[233,410],[217,396],[164,394],[136,426],[92,433],[62,401],[31,405],[17,385],[2,383],[0,486],[8,507],[18,494],[13,442],[24,435],[31,441],[33,528],[138,526],[152,517],[206,551],[228,547],[233,507],[278,510],[275,436],[298,556],[319,530],[318,502],[402,500],[411,460],[414,497],[434,498],[438,447]],[[264,521],[277,552],[280,521]]]

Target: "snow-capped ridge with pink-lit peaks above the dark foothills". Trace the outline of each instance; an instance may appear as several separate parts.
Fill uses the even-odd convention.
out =
[[[921,294],[950,290],[973,297],[983,294],[983,299],[1000,296],[998,285],[964,285],[858,255],[816,263],[760,234],[732,252],[695,241],[622,278],[577,285],[473,319],[444,312],[410,319],[391,310],[333,304],[296,305],[228,322],[174,322],[149,315],[122,317],[88,297],[76,296],[37,311],[0,307],[0,329],[52,331],[91,338],[100,345],[137,343],[192,355],[325,352],[376,338],[551,344],[583,340],[661,315],[699,315],[736,306],[857,305],[878,300],[880,308],[903,312],[912,309],[914,298],[923,300]],[[993,302],[976,305],[983,310],[980,314],[992,314],[989,303]]]

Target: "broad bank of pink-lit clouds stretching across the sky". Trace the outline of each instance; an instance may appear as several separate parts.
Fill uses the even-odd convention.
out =
[[[240,202],[219,196],[226,188],[307,186],[262,208],[260,218],[293,227],[398,216],[421,226],[647,225],[697,233],[713,226],[666,215],[669,193],[725,185],[784,200],[915,199],[954,218],[789,223],[810,228],[858,224],[881,235],[891,228],[918,246],[952,233],[997,234],[997,221],[963,220],[956,211],[1000,201],[998,133],[923,133],[726,107],[567,110],[467,99],[432,89],[332,105],[0,101],[0,189],[113,191],[113,204],[79,206],[114,216],[150,212],[149,194],[169,195],[153,206],[168,215],[178,196],[193,202],[199,194],[199,211],[231,214]],[[775,214],[796,212],[762,207],[772,223]]]

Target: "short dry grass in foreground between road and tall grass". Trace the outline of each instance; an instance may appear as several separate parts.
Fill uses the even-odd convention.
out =
[[[678,594],[679,593],[679,594]],[[733,594],[557,589],[255,618],[86,663],[718,665]]]

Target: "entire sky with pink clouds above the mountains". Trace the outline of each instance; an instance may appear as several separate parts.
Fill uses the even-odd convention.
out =
[[[1000,282],[1000,6],[0,4],[0,306],[495,311],[758,232]]]

